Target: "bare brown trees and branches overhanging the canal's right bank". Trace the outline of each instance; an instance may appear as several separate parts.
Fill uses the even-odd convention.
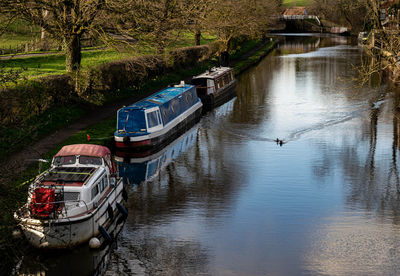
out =
[[[312,11],[323,19],[360,33],[364,45],[358,82],[363,85],[375,75],[400,82],[400,1],[399,0],[314,0]]]

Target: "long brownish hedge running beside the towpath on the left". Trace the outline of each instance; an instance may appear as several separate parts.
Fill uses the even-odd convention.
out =
[[[0,88],[0,124],[26,122],[46,110],[77,101],[102,105],[113,92],[141,87],[166,71],[194,66],[219,53],[221,42],[171,50],[165,56],[141,56],[101,64],[75,75],[54,75]]]

